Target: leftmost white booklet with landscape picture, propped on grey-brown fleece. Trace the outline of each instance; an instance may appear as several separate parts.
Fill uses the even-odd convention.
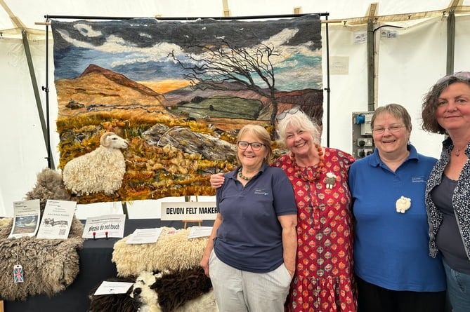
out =
[[[13,226],[8,238],[36,235],[41,219],[39,199],[13,202]]]

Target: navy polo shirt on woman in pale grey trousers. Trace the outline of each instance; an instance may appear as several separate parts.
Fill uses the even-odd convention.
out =
[[[297,215],[292,183],[280,168],[263,167],[243,186],[237,170],[216,191],[222,216],[214,238],[218,259],[235,269],[266,273],[283,262],[280,215]]]

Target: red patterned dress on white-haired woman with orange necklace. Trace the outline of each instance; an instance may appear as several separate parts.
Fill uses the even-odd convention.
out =
[[[355,312],[353,277],[353,223],[348,168],[354,158],[325,148],[324,167],[299,168],[284,155],[273,165],[282,168],[294,186],[297,204],[296,273],[287,299],[287,311]],[[329,189],[327,172],[336,175]]]

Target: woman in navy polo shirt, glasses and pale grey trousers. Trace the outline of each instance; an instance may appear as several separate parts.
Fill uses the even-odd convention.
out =
[[[237,137],[239,167],[216,191],[218,215],[201,266],[219,311],[284,311],[295,271],[297,209],[292,184],[270,167],[271,141],[261,126]]]

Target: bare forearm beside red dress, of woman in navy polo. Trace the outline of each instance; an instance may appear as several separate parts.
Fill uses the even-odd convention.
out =
[[[295,257],[297,252],[297,215],[281,215],[278,220],[282,226],[282,248],[284,264],[293,277],[295,273]]]

